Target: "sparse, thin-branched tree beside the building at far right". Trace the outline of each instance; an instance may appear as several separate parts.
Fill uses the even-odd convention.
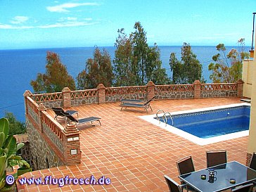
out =
[[[210,79],[212,82],[230,83],[242,78],[243,59],[249,58],[249,53],[244,51],[245,39],[238,40],[238,50],[231,49],[226,53],[226,46],[218,44],[216,46],[219,53],[212,56],[213,63],[208,65],[208,70],[212,71]]]

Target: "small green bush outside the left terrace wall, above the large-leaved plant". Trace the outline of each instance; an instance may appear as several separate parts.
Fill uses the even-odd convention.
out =
[[[6,112],[4,117],[9,122],[9,135],[24,134],[26,132],[25,122],[18,121],[13,113]]]

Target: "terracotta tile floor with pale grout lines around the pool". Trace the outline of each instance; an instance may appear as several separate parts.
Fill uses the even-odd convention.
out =
[[[203,98],[184,100],[153,101],[151,106],[157,110],[173,112],[216,105],[240,103],[238,98]],[[225,149],[228,160],[245,164],[248,136],[231,139],[207,146],[198,146],[180,136],[141,120],[139,115],[147,115],[142,108],[127,108],[120,111],[120,103],[101,105],[82,105],[73,107],[79,110],[79,118],[102,117],[102,126],[96,122],[82,124],[80,142],[82,160],[79,165],[54,167],[27,173],[27,177],[77,177],[99,178],[103,175],[111,179],[110,185],[27,185],[25,191],[168,191],[163,177],[167,174],[179,181],[176,162],[187,155],[193,156],[196,169],[206,167],[205,151]],[[52,113],[51,113],[52,114]],[[53,114],[52,114],[53,115]]]

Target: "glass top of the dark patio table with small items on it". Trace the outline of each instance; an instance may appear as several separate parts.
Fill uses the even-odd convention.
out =
[[[217,172],[214,179],[209,179],[208,169],[215,169]],[[201,179],[202,174],[206,175],[205,179]],[[255,181],[256,171],[239,162],[232,161],[196,172],[182,174],[179,178],[192,188],[195,188],[196,191],[224,191],[228,188]],[[235,182],[231,183],[231,179],[235,179]]]

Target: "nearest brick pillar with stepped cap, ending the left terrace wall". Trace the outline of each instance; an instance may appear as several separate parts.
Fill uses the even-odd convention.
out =
[[[67,124],[64,127],[63,132],[65,134],[65,163],[66,165],[79,164],[81,162],[81,151],[77,125],[73,123]]]

